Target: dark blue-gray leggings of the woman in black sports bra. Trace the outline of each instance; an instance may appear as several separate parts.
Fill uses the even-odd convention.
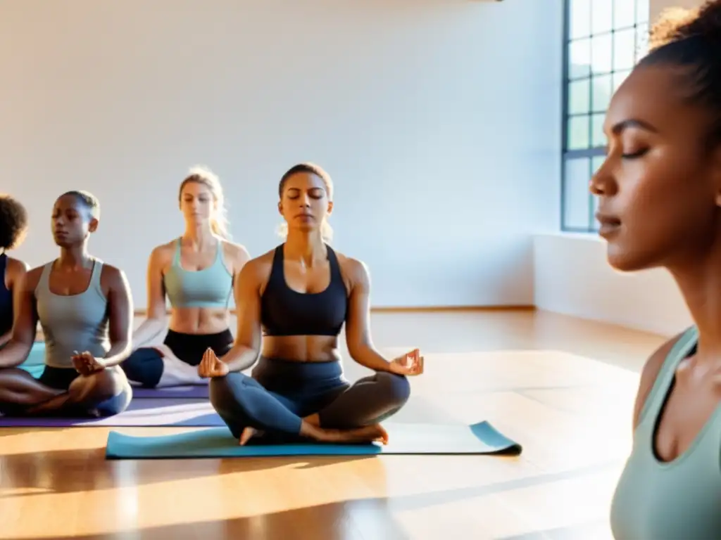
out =
[[[360,428],[397,413],[410,397],[402,375],[378,372],[351,385],[339,361],[299,362],[261,357],[252,377],[240,372],[211,379],[210,400],[239,438],[246,427],[296,438],[305,416],[322,428]]]

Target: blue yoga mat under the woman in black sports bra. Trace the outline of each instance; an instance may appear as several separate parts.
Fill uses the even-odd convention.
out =
[[[463,425],[387,423],[389,444],[248,444],[239,446],[228,428],[162,436],[111,431],[105,459],[188,459],[268,456],[366,456],[374,454],[521,454],[488,422]]]

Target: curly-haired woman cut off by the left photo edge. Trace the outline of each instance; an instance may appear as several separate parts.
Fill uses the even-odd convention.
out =
[[[7,255],[25,240],[27,211],[17,199],[0,194],[0,348],[10,341],[17,315],[19,284],[29,266]]]

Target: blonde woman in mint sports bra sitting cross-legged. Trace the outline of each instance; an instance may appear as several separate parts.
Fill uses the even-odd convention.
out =
[[[250,258],[243,246],[227,240],[223,189],[211,171],[192,169],[178,199],[185,233],[150,255],[148,315],[122,365],[128,379],[143,387],[205,384],[198,364],[205,349],[222,356],[233,345],[229,301]],[[172,307],[167,327],[166,296]],[[147,344],[166,328],[163,344]]]

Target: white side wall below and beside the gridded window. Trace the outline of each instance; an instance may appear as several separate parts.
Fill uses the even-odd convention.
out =
[[[700,0],[651,0],[650,21],[671,6]],[[606,262],[593,234],[542,233],[534,238],[535,304],[542,310],[603,320],[673,336],[691,324],[683,297],[662,269],[623,274]]]

